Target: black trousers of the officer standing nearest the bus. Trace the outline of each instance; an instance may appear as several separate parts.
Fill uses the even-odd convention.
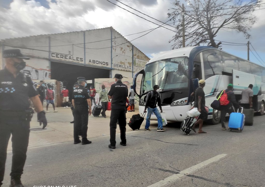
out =
[[[112,146],[116,145],[116,128],[117,122],[119,120],[119,126],[121,131],[121,142],[126,144],[126,108],[122,109],[112,109],[111,110],[111,121],[109,123],[110,127],[110,142]]]

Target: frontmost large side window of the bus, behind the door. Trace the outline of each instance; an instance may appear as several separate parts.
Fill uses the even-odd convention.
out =
[[[223,63],[220,51],[206,50],[202,52],[205,79],[213,75],[222,75]]]

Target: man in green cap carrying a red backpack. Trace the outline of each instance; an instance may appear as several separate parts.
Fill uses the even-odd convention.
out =
[[[220,96],[220,98],[219,98]],[[222,130],[226,130],[226,126],[224,125],[226,121],[226,113],[229,115],[232,112],[235,112],[235,108],[240,108],[241,106],[236,102],[236,97],[233,92],[233,84],[228,84],[226,90],[222,90],[216,98],[219,98],[220,101],[220,111],[221,111],[221,124],[222,124]]]

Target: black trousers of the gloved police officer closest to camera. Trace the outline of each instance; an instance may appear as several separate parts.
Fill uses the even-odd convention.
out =
[[[20,177],[27,158],[29,122],[24,116],[0,116],[0,185],[4,179],[7,145],[12,134],[12,166],[10,176]]]

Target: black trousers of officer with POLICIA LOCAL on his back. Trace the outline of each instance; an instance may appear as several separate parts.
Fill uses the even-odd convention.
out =
[[[77,105],[74,108],[74,141],[78,142],[78,133],[81,129],[82,140],[87,140],[88,125],[88,108],[86,106]]]

